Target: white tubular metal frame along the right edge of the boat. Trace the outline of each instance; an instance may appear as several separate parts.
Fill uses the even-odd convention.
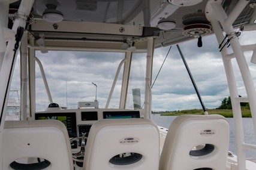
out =
[[[246,63],[244,51],[255,49],[255,45],[240,45],[238,36],[240,32],[236,32],[233,23],[242,13],[243,9],[248,5],[249,1],[241,0],[236,7],[227,16],[221,6],[221,1],[209,1],[206,5],[206,17],[211,22],[216,38],[219,43],[222,60],[230,89],[231,104],[233,108],[234,125],[236,131],[237,143],[237,166],[238,169],[246,169],[246,150],[256,150],[256,145],[245,143],[243,134],[242,111],[240,103],[249,102],[252,120],[254,123],[254,133],[256,131],[256,92],[254,82],[251,78],[248,63]],[[241,23],[243,26],[244,23]],[[224,36],[224,33],[225,36]],[[228,46],[232,48],[232,53],[228,51]],[[255,51],[255,50],[254,50]],[[255,52],[254,52],[255,53]],[[236,79],[234,75],[232,59],[236,59],[245,85],[247,97],[239,97]]]

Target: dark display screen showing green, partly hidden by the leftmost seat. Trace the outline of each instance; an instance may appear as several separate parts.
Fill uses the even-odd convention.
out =
[[[59,120],[67,127],[70,138],[77,137],[76,113],[35,113],[35,120]]]

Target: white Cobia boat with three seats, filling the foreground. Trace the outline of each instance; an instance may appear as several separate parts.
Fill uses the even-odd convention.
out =
[[[240,107],[249,103],[255,134],[256,92],[244,52],[253,51],[255,63],[256,48],[238,41],[256,30],[254,7],[246,0],[0,0],[0,169],[256,169],[246,159],[256,146],[245,142]],[[224,63],[236,154],[228,152],[227,120],[209,115],[201,100],[205,115],[178,116],[168,129],[151,118],[155,50],[192,39],[203,48],[208,35]],[[20,118],[5,120],[18,55]],[[106,75],[112,82],[97,84]],[[106,95],[97,98],[97,90]]]

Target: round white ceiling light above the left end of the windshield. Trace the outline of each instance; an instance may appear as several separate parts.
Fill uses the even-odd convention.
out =
[[[47,9],[44,10],[44,13],[43,13],[43,19],[45,21],[50,23],[59,23],[64,19],[61,11],[56,10],[57,5],[46,4],[46,7]]]

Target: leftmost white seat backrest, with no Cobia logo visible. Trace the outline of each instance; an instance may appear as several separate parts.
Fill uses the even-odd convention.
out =
[[[5,121],[3,169],[73,169],[68,132],[59,120]]]

